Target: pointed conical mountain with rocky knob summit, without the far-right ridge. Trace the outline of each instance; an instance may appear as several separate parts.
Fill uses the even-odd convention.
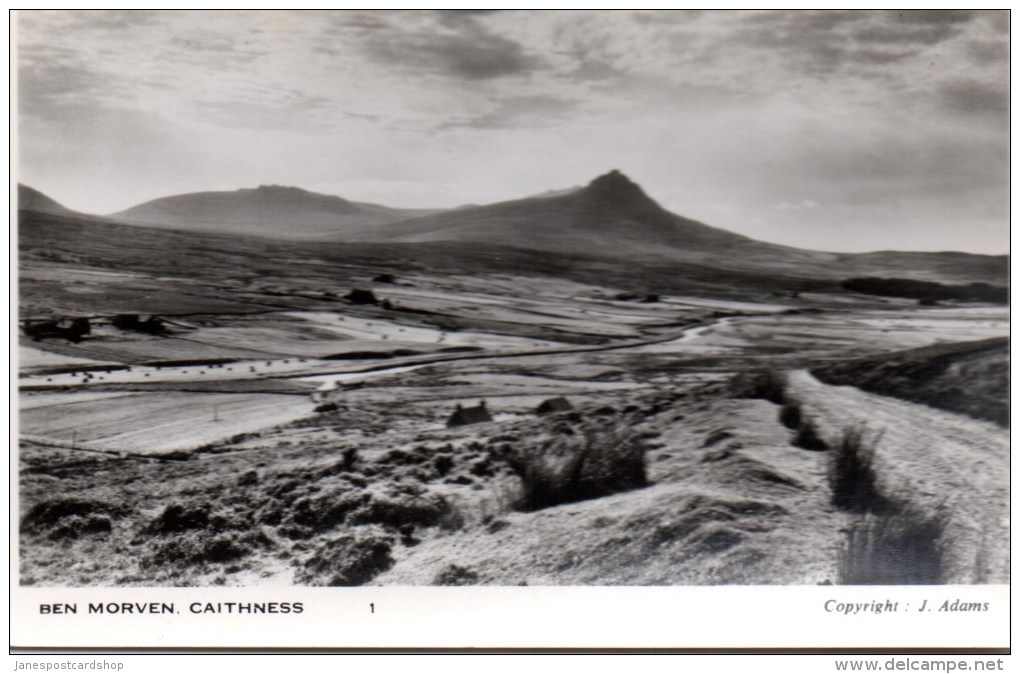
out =
[[[828,253],[766,244],[662,208],[617,170],[586,187],[375,227],[371,241],[456,241],[562,254],[734,263],[824,263]]]

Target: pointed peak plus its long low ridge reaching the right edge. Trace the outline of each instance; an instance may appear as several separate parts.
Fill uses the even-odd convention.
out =
[[[827,253],[756,241],[667,211],[616,170],[584,188],[396,222],[372,229],[368,237],[391,243],[507,246],[631,264],[681,263],[790,277],[891,273],[1005,284],[1008,266],[1005,256]]]

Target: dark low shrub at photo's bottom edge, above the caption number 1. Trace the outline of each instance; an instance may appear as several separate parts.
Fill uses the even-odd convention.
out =
[[[327,541],[305,562],[295,580],[307,585],[363,585],[393,566],[393,542],[373,532],[347,533]]]

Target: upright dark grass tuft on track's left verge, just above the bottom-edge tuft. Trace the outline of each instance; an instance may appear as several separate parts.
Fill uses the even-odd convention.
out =
[[[877,512],[884,507],[874,467],[879,437],[866,439],[861,426],[844,430],[828,469],[832,505],[855,513]]]

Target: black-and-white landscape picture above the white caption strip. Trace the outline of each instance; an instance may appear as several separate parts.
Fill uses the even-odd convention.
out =
[[[21,590],[1010,583],[1008,10],[12,22]]]

